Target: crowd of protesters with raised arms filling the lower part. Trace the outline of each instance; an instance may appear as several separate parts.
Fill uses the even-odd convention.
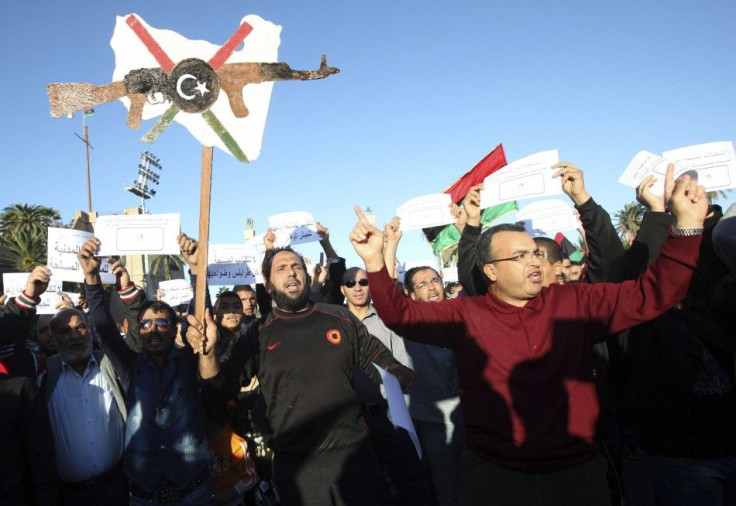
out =
[[[399,279],[400,220],[358,208],[364,265],[318,225],[308,272],[269,231],[263,284],[207,294],[201,319],[119,261],[106,290],[96,238],[83,304],[39,316],[37,267],[0,312],[0,504],[736,505],[736,206],[670,167],[664,195],[637,188],[627,248],[583,171],[554,169],[582,261],[483,230],[477,185],[447,286],[430,265]],[[194,287],[197,241],[178,241]]]

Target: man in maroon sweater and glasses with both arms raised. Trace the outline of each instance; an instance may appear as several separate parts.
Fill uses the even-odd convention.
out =
[[[455,350],[467,445],[461,504],[610,504],[594,441],[592,343],[684,297],[707,206],[702,186],[679,179],[669,200],[672,237],[638,280],[621,284],[543,289],[538,248],[524,228],[492,227],[476,246],[488,292],[431,304],[398,291],[383,234],[355,209],[350,240],[381,319],[407,339]]]

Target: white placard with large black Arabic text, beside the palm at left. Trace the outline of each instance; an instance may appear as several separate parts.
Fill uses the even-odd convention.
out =
[[[54,279],[84,282],[84,272],[77,260],[77,253],[93,235],[92,232],[83,230],[48,228],[48,267]],[[100,279],[102,284],[115,284],[115,275],[110,272],[110,263],[106,260],[100,264]]]

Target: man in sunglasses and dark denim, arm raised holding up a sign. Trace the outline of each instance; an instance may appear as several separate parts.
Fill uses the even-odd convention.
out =
[[[144,302],[138,313],[143,353],[125,344],[102,290],[99,246],[99,239],[89,239],[77,259],[102,351],[127,395],[123,471],[130,480],[130,504],[210,504],[214,488],[196,357],[190,347],[173,345],[176,313],[160,301]],[[120,262],[110,270],[127,278]],[[119,283],[125,288],[130,281]]]

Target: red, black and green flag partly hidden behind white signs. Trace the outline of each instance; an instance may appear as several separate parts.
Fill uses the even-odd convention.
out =
[[[480,184],[489,175],[496,172],[501,167],[506,166],[506,154],[503,151],[503,144],[499,144],[496,148],[488,153],[485,158],[478,162],[475,167],[463,174],[455,181],[444,193],[449,193],[453,202],[459,204],[468,194],[470,188]],[[501,216],[514,212],[519,209],[516,202],[506,202],[497,206],[489,207],[483,210],[481,215],[481,225],[487,225]],[[453,225],[443,225],[423,229],[424,235],[432,245],[432,251],[435,255],[440,251],[457,244],[460,240],[460,231]]]

